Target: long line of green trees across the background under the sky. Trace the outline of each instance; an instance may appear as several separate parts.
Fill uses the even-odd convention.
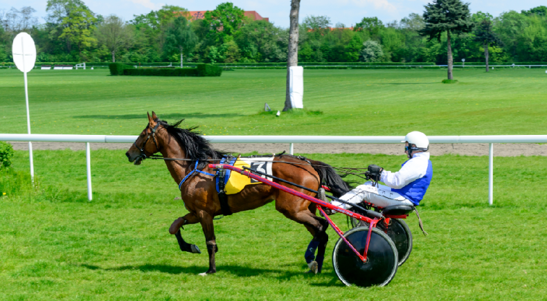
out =
[[[287,12],[289,8],[287,6]],[[0,10],[0,62],[12,62],[12,40],[22,31],[32,35],[37,62],[286,62],[287,28],[244,17],[241,8],[222,3],[204,19],[192,20],[186,9],[163,6],[124,21],[97,15],[81,0],[49,0],[45,24],[35,10]],[[547,7],[472,15],[487,20],[499,43],[489,47],[490,62],[547,61]],[[411,14],[383,24],[364,17],[358,24],[332,26],[327,16],[301,21],[300,62],[447,62],[447,39],[420,35],[422,15]],[[484,62],[483,43],[476,33],[451,37],[454,62]]]

